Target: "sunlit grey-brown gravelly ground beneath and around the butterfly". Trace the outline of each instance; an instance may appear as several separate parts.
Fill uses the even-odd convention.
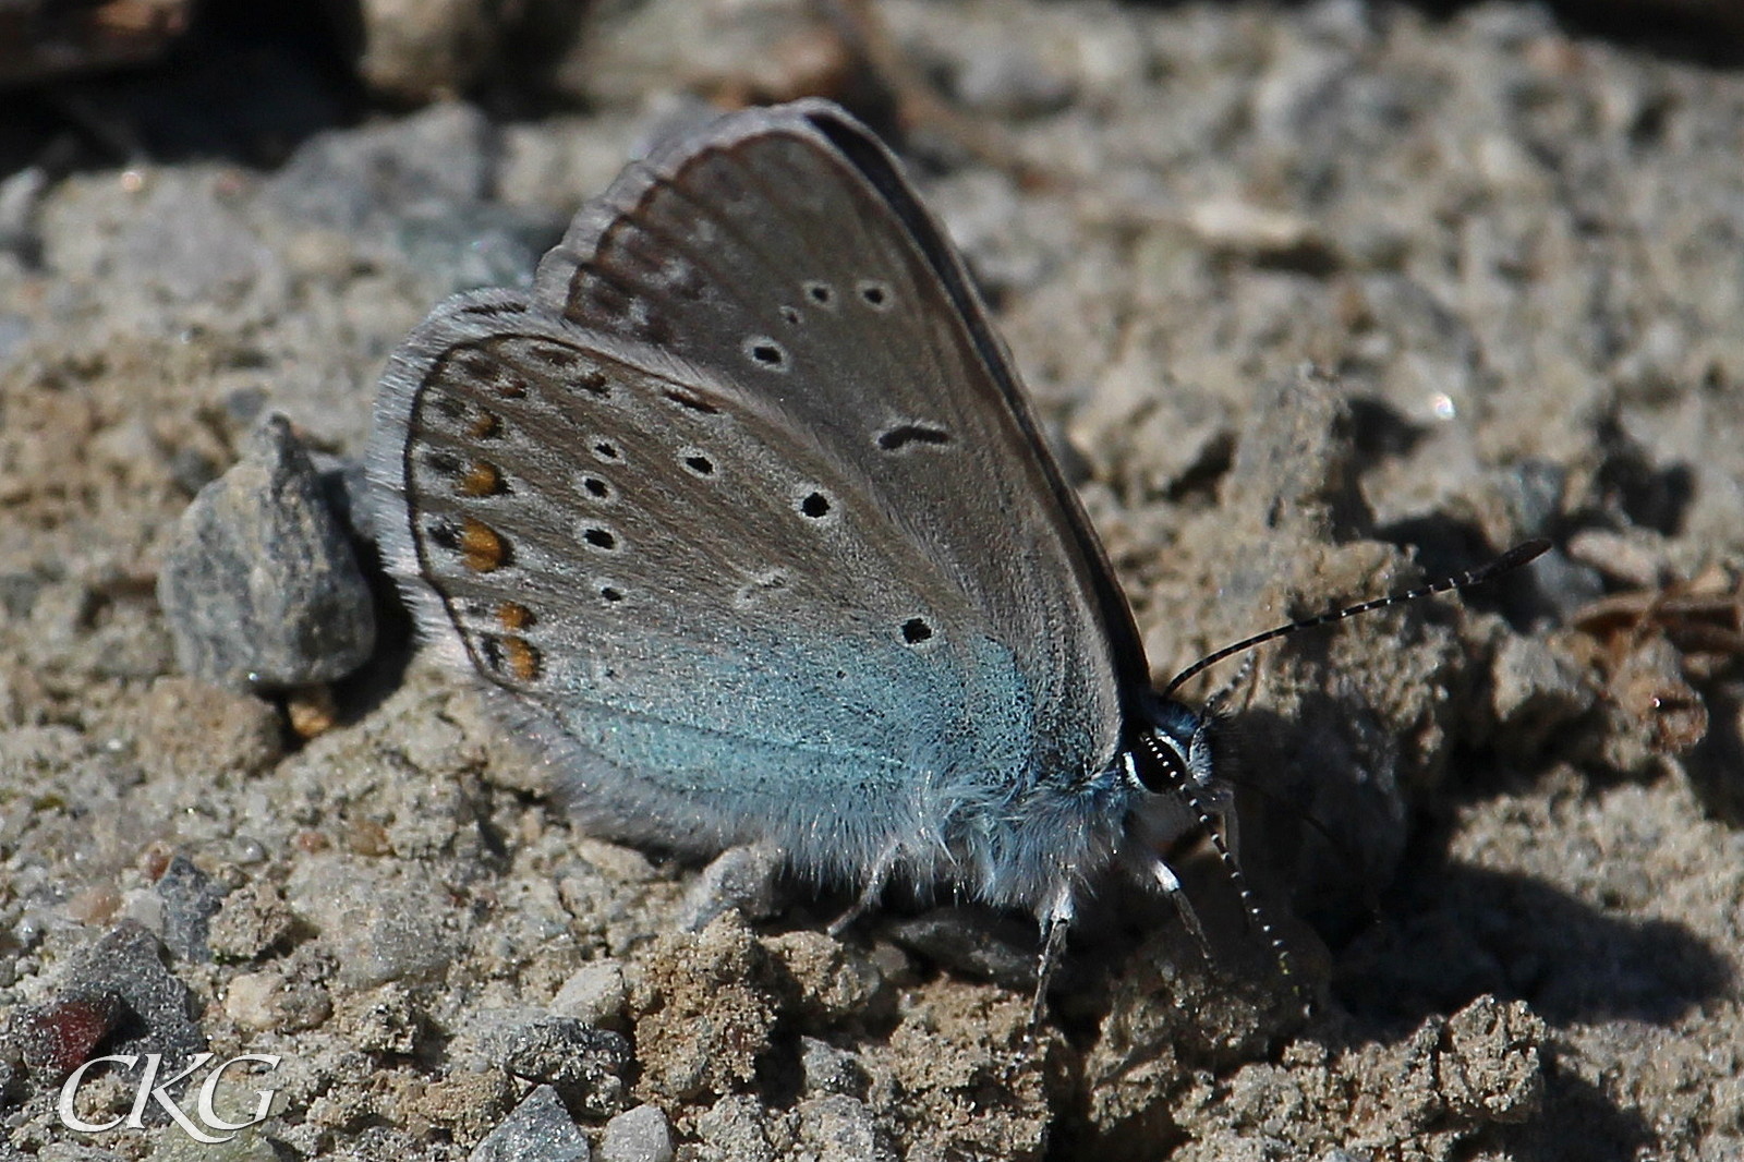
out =
[[[586,837],[380,578],[373,660],[335,686],[181,675],[157,579],[239,455],[300,462],[263,417],[344,511],[382,363],[443,293],[527,277],[694,94],[863,91],[800,5],[657,0],[548,54],[586,113],[319,127],[344,103],[262,65],[267,112],[166,85],[119,119],[145,73],[51,103],[108,162],[9,169],[0,1159],[1744,1153],[1744,79],[1704,63],[1735,31],[882,12],[961,117],[912,126],[917,183],[1162,677],[1556,543],[1236,687],[1243,851],[1313,1014],[1198,869],[1216,963],[1155,900],[1100,900],[1031,1043],[1017,918],[896,899],[834,939],[846,897],[757,851]],[[220,1110],[277,1094],[225,1145],[56,1113],[87,1056],[201,1049],[281,1057],[225,1075]],[[78,1111],[126,1115],[133,1080]]]

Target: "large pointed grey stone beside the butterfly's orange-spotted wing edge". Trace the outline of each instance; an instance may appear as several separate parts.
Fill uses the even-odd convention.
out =
[[[370,586],[279,415],[181,515],[157,600],[176,661],[216,686],[328,682],[375,647]]]

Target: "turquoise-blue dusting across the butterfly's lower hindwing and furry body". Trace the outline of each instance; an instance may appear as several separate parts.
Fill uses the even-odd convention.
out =
[[[598,761],[577,773],[584,813],[595,796],[637,817],[630,830],[767,839],[799,872],[856,886],[895,851],[898,876],[1036,911],[1118,841],[1128,790],[1114,755],[1093,754],[1069,707],[1038,714],[992,640],[771,644],[654,668],[647,698],[617,687],[562,714],[565,742]]]

